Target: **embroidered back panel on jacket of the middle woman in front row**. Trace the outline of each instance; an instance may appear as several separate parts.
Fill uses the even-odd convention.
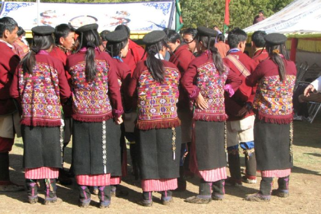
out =
[[[143,71],[138,86],[138,120],[162,121],[177,119],[179,72],[164,68],[164,83],[155,81],[148,70]]]

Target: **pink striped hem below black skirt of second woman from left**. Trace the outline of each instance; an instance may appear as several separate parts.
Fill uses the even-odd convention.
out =
[[[111,184],[110,179],[111,174],[76,175],[77,183],[85,186],[107,186]]]

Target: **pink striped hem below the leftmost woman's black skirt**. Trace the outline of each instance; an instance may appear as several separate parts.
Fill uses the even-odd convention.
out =
[[[54,167],[38,167],[24,169],[24,177],[26,179],[52,179],[58,178],[59,168]]]

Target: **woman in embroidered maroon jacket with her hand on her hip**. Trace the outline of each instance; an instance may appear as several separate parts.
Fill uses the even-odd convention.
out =
[[[186,199],[190,203],[209,203],[224,197],[226,178],[224,91],[232,96],[241,83],[239,77],[223,65],[214,46],[217,32],[197,28],[195,40],[199,57],[186,70],[181,84],[193,100],[193,138],[190,168],[201,178],[198,196]],[[228,84],[230,83],[230,84]],[[228,85],[226,85],[228,84]],[[225,89],[225,90],[224,90]],[[213,194],[211,190],[213,188]]]

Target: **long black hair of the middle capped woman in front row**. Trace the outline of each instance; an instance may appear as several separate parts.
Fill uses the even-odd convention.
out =
[[[145,51],[147,52],[146,66],[150,71],[155,81],[162,83],[164,81],[164,65],[161,59],[155,57],[163,47],[166,46],[164,40],[161,40],[155,44],[146,45]]]

